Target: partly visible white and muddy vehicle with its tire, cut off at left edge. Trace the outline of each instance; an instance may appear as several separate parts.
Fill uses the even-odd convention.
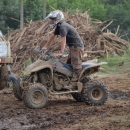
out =
[[[6,41],[0,32],[0,90],[4,89],[8,83],[8,77],[11,73],[10,64],[13,63],[11,57],[10,43]]]

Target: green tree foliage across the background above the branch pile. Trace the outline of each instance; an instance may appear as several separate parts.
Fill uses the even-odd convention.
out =
[[[24,1],[24,22],[43,19],[43,0]],[[0,30],[19,28],[20,0],[0,0]],[[130,0],[46,0],[46,13],[59,9],[64,12],[79,13],[89,10],[90,17],[101,21],[113,20],[109,29],[115,33],[120,25],[119,35],[128,33],[130,37]]]

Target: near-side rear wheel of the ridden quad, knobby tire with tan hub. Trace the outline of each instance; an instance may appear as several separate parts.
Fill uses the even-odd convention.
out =
[[[87,105],[102,105],[108,99],[108,90],[99,82],[90,82],[83,88],[83,97]]]

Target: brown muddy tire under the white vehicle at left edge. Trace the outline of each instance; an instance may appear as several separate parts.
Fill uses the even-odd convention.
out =
[[[4,89],[8,82],[8,69],[6,65],[0,67],[0,90]]]

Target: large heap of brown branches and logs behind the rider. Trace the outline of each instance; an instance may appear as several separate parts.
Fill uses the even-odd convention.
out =
[[[103,32],[99,29],[99,24],[94,25],[88,13],[70,15],[65,13],[65,21],[73,25],[81,36],[85,53],[89,59],[97,56],[108,56],[113,52],[122,55],[128,48],[129,43],[111,32]],[[100,23],[102,24],[102,23]],[[27,66],[27,62],[32,62],[38,58],[35,49],[43,47],[49,36],[53,33],[47,20],[30,22],[22,30],[15,30],[9,33],[8,40],[11,43],[14,64],[14,73],[20,73]],[[60,36],[51,43],[48,48],[53,52],[60,51]],[[66,47],[66,52],[68,48]]]

